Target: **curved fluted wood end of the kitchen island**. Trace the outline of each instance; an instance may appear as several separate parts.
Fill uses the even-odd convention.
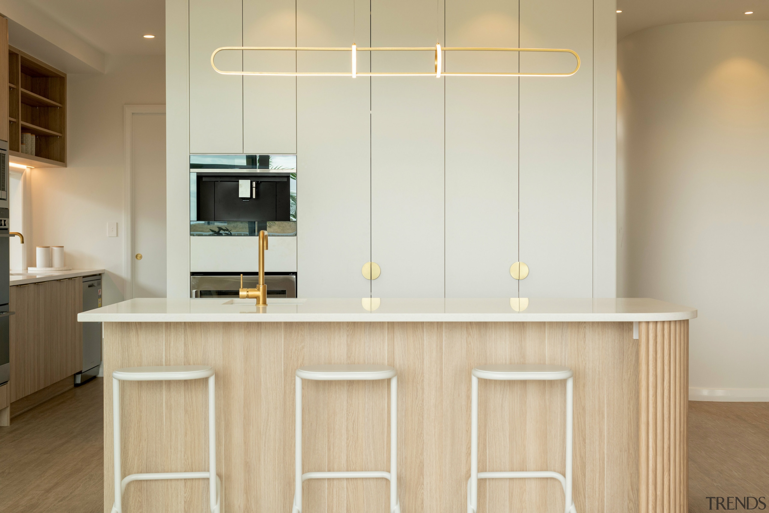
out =
[[[638,330],[639,513],[686,513],[689,321]]]

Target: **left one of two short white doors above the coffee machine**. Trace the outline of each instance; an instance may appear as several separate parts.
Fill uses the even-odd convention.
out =
[[[211,68],[211,53],[242,46],[241,0],[190,0],[190,152],[243,152],[243,77]],[[221,52],[219,69],[242,70],[243,52]]]

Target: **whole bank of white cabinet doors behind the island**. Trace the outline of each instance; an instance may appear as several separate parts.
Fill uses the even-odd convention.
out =
[[[591,297],[594,18],[610,3],[441,0],[436,12],[432,0],[356,0],[354,35],[350,0],[189,0],[190,151],[297,154],[301,296]],[[572,48],[582,65],[568,78],[285,78],[218,75],[209,62],[224,45],[354,38]],[[217,64],[349,69],[348,52],[244,53]],[[447,71],[574,65],[571,55],[444,55]],[[432,52],[358,52],[360,71],[432,68]],[[367,261],[381,267],[375,281],[361,275]],[[514,261],[528,278],[511,278]]]

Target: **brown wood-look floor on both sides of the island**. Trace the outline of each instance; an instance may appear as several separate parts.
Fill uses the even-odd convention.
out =
[[[0,511],[101,511],[102,436],[101,378],[0,428]],[[691,401],[690,513],[715,511],[706,497],[769,496],[767,448],[769,403]]]

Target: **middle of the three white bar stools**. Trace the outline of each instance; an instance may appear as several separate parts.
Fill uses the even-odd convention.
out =
[[[345,471],[301,473],[301,380],[375,381],[390,380],[390,471]],[[308,479],[385,478],[390,480],[390,511],[400,513],[398,502],[398,373],[388,365],[307,365],[296,371],[295,490],[292,513],[301,513],[301,485]]]

